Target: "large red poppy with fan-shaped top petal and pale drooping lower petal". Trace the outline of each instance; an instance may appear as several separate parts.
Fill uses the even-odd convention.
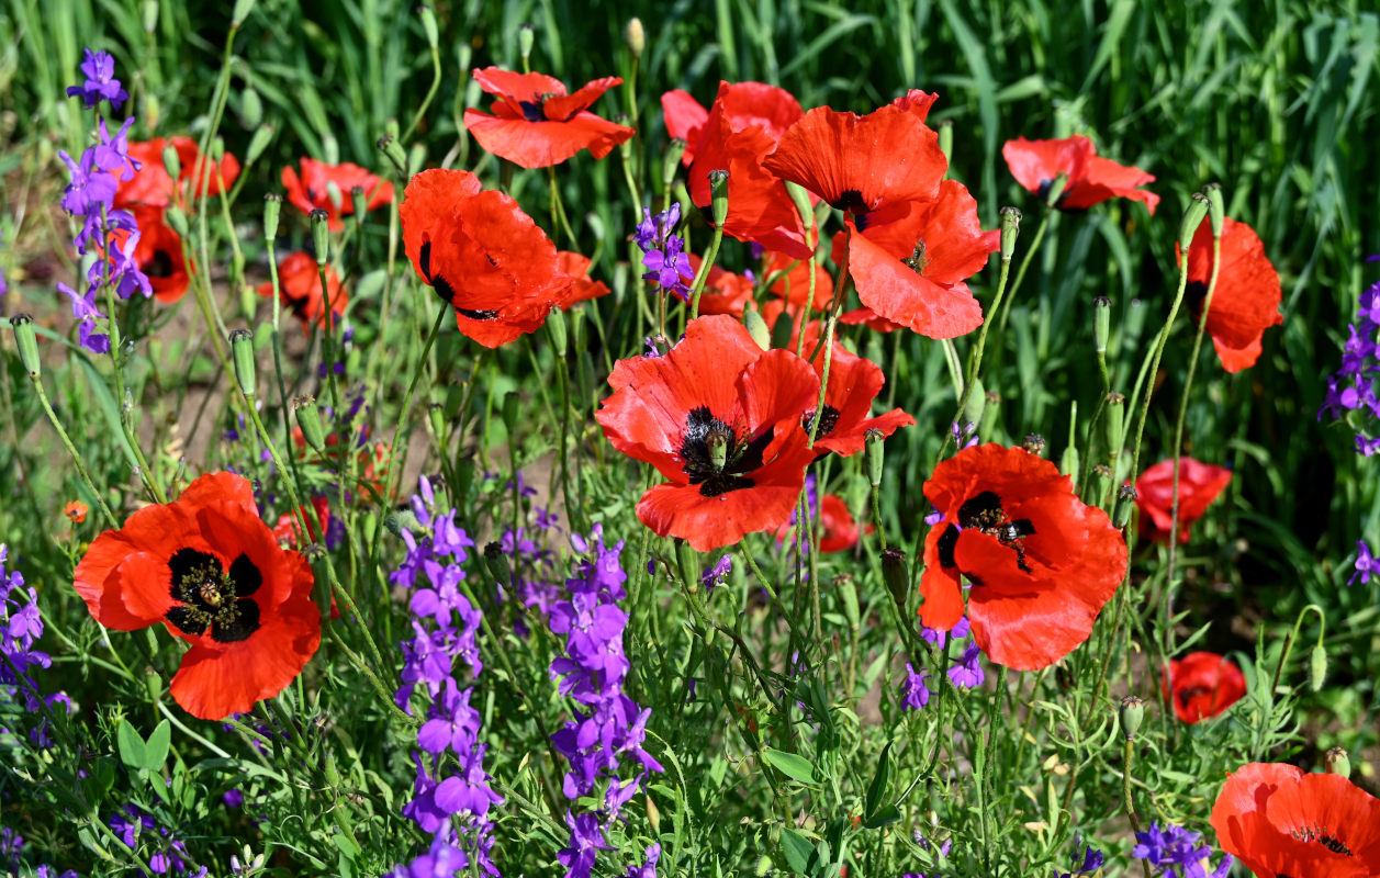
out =
[[[927,110],[909,95],[867,116],[816,108],[765,166],[847,213],[849,273],[864,305],[930,338],[952,338],[983,322],[963,280],[985,265],[998,236],[983,232],[967,189],[944,181],[948,163],[922,119]]]

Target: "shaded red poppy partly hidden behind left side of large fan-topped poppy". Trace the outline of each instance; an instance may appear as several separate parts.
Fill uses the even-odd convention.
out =
[[[756,99],[763,104],[753,109]],[[759,83],[719,83],[719,95],[694,144],[694,163],[687,178],[690,200],[708,208],[712,202],[709,171],[729,171],[729,214],[723,233],[792,260],[809,260],[805,222],[785,184],[763,164],[785,126],[796,119],[800,119],[800,105],[787,91]]]

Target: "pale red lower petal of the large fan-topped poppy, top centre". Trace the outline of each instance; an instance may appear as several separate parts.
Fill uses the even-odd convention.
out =
[[[936,283],[867,236],[851,237],[849,273],[858,298],[878,316],[929,338],[956,338],[983,324],[983,306],[967,284]]]

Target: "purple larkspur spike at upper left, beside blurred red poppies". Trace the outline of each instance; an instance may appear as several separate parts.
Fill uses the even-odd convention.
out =
[[[81,73],[86,81],[68,88],[68,94],[81,97],[88,108],[108,99],[119,109],[120,102],[128,98],[120,88],[120,80],[113,79],[115,59],[108,52],[86,50]],[[81,229],[72,243],[81,255],[95,254],[95,261],[87,269],[86,293],[77,293],[61,282],[58,291],[72,300],[72,315],[80,320],[81,347],[92,353],[110,352],[110,337],[94,331],[95,322],[106,318],[97,306],[98,293],[113,290],[120,298],[130,298],[135,293],[145,297],[153,294],[148,276],[134,260],[134,248],[139,244],[139,224],[130,211],[115,208],[119,182],[134,179],[141,167],[130,157],[127,134],[132,123],[134,119],[127,119],[119,134],[110,137],[105,119],[101,119],[97,124],[98,139],[81,153],[80,160],[58,152],[72,174],[72,182],[62,195],[62,208],[81,220]]]

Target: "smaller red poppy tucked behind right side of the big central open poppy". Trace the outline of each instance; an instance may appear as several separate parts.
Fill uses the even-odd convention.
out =
[[[816,356],[810,366],[814,369],[814,374],[822,380],[824,355]],[[869,417],[872,402],[882,392],[883,384],[886,384],[886,377],[882,374],[880,366],[835,342],[834,353],[829,358],[829,385],[824,389],[824,411],[814,433],[814,447],[850,457],[862,450],[865,433],[869,429],[878,429],[882,431],[883,436],[890,436],[898,428],[915,424],[915,418],[900,409]],[[806,431],[814,421],[816,403],[818,399],[810,404],[810,410],[802,418],[802,427]]]

